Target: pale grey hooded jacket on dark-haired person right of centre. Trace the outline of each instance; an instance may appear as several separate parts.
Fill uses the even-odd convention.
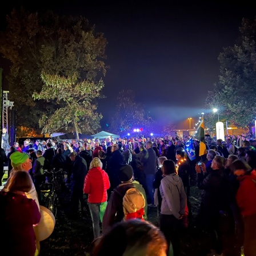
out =
[[[174,215],[177,219],[185,214],[187,196],[179,175],[166,175],[159,189],[162,196],[161,214]]]

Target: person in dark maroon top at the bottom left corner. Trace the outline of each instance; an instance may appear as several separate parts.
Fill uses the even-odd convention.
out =
[[[33,186],[27,171],[16,171],[11,175],[7,192],[1,191],[0,218],[5,234],[0,239],[1,248],[6,248],[8,255],[34,256],[36,251],[33,226],[38,225],[41,214],[37,203],[26,197]]]

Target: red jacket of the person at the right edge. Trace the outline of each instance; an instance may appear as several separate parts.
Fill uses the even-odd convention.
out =
[[[249,175],[238,177],[240,182],[237,191],[237,204],[243,216],[256,214],[256,171],[253,170]]]

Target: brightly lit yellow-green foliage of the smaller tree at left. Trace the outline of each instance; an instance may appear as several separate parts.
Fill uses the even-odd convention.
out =
[[[101,114],[95,110],[93,99],[99,97],[103,88],[103,81],[99,83],[82,81],[78,82],[77,77],[60,77],[42,73],[44,82],[41,93],[35,92],[34,99],[45,99],[53,101],[59,106],[50,117],[43,114],[39,120],[42,133],[53,133],[61,129],[75,131],[78,133],[93,133],[99,127]]]

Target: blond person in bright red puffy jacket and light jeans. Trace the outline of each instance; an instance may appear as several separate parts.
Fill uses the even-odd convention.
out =
[[[109,176],[102,170],[102,162],[94,157],[85,177],[83,193],[88,194],[88,205],[93,221],[94,239],[99,237],[99,220],[103,219],[107,207],[107,190],[110,188]]]

